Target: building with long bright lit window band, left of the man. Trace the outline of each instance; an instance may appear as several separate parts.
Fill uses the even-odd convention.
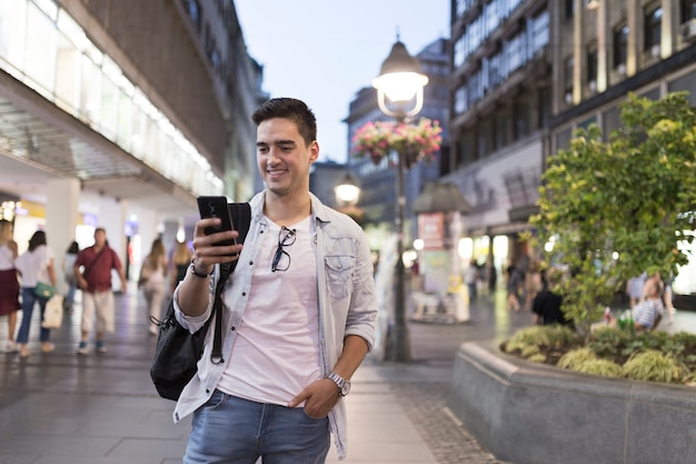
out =
[[[250,197],[261,78],[231,0],[2,2],[0,195],[20,249],[103,226],[137,265],[186,236],[197,196]]]

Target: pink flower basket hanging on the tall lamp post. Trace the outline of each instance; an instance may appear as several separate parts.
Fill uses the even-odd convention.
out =
[[[386,121],[367,122],[352,137],[352,156],[369,156],[375,165],[395,150],[404,156],[406,168],[435,159],[443,142],[443,128],[438,121],[420,118],[418,125]]]

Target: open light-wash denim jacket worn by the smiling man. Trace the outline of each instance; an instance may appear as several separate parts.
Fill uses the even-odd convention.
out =
[[[251,275],[256,266],[260,245],[264,240],[255,237],[268,233],[268,224],[264,217],[266,192],[256,195],[251,204],[251,225],[245,240],[235,273],[229,278],[222,293],[223,317],[222,333],[226,334],[222,345],[225,359],[230,358],[232,344],[251,289]],[[319,298],[319,345],[321,371],[331,373],[340,356],[344,338],[358,335],[367,342],[371,349],[375,343],[375,324],[377,319],[377,302],[375,297],[374,267],[370,250],[362,229],[348,216],[326,207],[311,195],[311,213],[316,225],[314,245],[316,250],[317,285]],[[176,316],[183,327],[196,332],[210,317],[213,290],[219,276],[219,266],[210,279],[208,308],[196,318],[185,319],[175,293]],[[258,300],[258,298],[257,298]],[[226,363],[210,362],[212,349],[212,328],[206,336],[206,347],[198,362],[198,374],[183,388],[173,412],[175,423],[195,412],[212,395]],[[329,413],[330,430],[335,434],[339,458],[346,454],[346,407],[342,399]]]

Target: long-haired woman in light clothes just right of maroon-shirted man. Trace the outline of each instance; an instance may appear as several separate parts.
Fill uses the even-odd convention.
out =
[[[157,323],[161,319],[162,300],[167,292],[167,272],[169,263],[165,245],[160,238],[152,240],[150,253],[142,261],[138,286],[148,304],[148,327],[152,335],[157,335]]]

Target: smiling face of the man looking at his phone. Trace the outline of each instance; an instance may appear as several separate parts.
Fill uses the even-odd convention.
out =
[[[309,146],[295,122],[268,119],[257,128],[256,158],[268,190],[285,196],[309,189],[309,168],[319,157],[319,145]]]

